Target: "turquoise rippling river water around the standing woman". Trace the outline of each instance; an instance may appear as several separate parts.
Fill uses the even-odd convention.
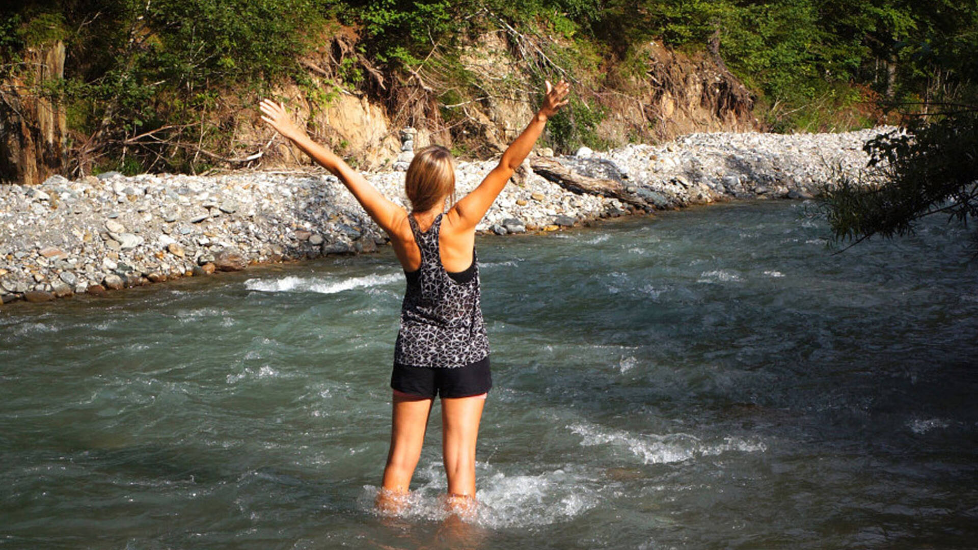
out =
[[[480,509],[372,502],[393,254],[0,309],[0,546],[973,548],[964,230],[824,247],[799,203],[477,242]]]

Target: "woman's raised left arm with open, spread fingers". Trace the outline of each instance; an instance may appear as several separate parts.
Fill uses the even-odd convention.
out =
[[[295,125],[282,104],[265,99],[262,100],[260,107],[263,113],[261,116],[262,120],[267,122],[269,126],[275,128],[284,137],[289,138],[292,143],[297,145],[312,160],[319,162],[324,168],[330,170],[350,190],[350,193],[360,203],[360,206],[363,206],[367,210],[370,217],[374,218],[374,221],[377,222],[380,229],[383,229],[388,235],[393,234],[394,228],[400,225],[404,216],[407,214],[404,208],[395,205],[384,197],[376,187],[367,181],[363,174],[351,168],[345,160],[340,159],[329,149],[314,142],[305,130]]]

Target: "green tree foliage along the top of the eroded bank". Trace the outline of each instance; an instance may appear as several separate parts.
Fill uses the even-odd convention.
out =
[[[968,97],[978,81],[978,5],[956,0],[27,1],[0,7],[0,79],[26,72],[26,48],[63,40],[66,79],[37,92],[58,96],[79,139],[101,144],[98,162],[137,155],[134,169],[193,169],[196,155],[149,138],[129,145],[221,135],[201,120],[222,94],[298,75],[297,59],[333,21],[356,28],[358,55],[387,72],[417,69],[436,47],[503,23],[562,37],[568,52],[553,53],[569,71],[574,60],[630,59],[664,41],[718,56],[783,131],[830,127],[835,110],[872,95],[926,111]],[[559,133],[568,144],[594,142],[586,125],[600,114],[580,114]]]

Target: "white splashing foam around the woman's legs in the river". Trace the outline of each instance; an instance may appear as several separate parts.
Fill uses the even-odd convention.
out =
[[[404,508],[397,516],[415,521],[442,521],[448,518],[445,506],[446,481],[441,464],[430,463],[420,472],[422,484],[404,497]],[[581,473],[557,469],[537,475],[506,474],[485,463],[477,464],[478,505],[463,517],[467,523],[490,528],[540,527],[574,518],[600,503],[595,479]],[[378,487],[364,485],[360,507],[380,514],[374,507]]]

